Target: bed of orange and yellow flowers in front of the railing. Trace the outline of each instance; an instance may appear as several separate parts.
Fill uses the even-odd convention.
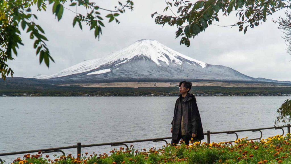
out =
[[[189,164],[234,164],[234,163],[290,163],[291,164],[291,135],[277,135],[260,141],[238,139],[235,143],[191,142],[188,145],[163,146],[162,149],[151,148],[136,150],[131,145],[129,149],[120,147],[113,149],[110,154],[81,154],[81,158],[58,156],[54,160],[49,156],[36,154],[24,155],[17,158],[13,164],[122,164],[122,163],[189,163]],[[290,156],[289,156],[290,155]]]

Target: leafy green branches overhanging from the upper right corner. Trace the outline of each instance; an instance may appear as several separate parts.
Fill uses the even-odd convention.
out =
[[[205,31],[214,20],[219,21],[219,12],[223,16],[235,12],[238,22],[231,26],[239,26],[239,31],[244,31],[246,34],[248,27],[254,28],[265,22],[268,15],[291,7],[287,0],[201,0],[194,4],[184,0],[173,1],[173,6],[177,8],[177,15],[173,13],[175,16],[168,16],[155,12],[152,17],[157,14],[156,24],[176,26],[178,28],[176,38],[181,36],[180,44],[185,44],[187,47],[190,46],[190,38],[194,39],[200,32]],[[164,11],[168,10],[169,4],[171,3],[167,2]],[[172,7],[172,4],[170,6]]]

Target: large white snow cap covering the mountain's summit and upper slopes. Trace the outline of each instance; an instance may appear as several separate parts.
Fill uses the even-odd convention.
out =
[[[67,69],[64,69],[58,73],[46,75],[46,76],[35,76],[34,78],[48,79],[56,78],[62,76],[68,76],[72,74],[79,74],[82,72],[91,71],[97,69],[102,65],[108,65],[111,63],[116,63],[115,65],[123,64],[128,62],[135,56],[143,55],[148,57],[150,60],[155,62],[157,65],[161,65],[160,62],[165,62],[166,64],[174,63],[181,65],[183,62],[181,58],[197,63],[202,68],[207,66],[206,63],[195,60],[191,57],[178,53],[171,48],[164,46],[162,43],[156,40],[138,40],[131,44],[130,46],[106,55],[102,58],[86,60],[79,64],[73,65]],[[190,64],[189,62],[187,62]],[[190,64],[191,65],[191,64]],[[194,64],[195,65],[195,64]]]

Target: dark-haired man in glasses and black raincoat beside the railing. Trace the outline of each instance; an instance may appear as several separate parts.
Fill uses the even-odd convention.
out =
[[[192,83],[189,81],[179,83],[180,95],[175,104],[174,117],[171,123],[171,144],[178,144],[180,139],[187,145],[191,138],[197,141],[204,139],[196,98],[189,93],[191,87]]]

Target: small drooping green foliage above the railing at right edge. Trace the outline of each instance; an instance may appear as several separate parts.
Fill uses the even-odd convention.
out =
[[[291,121],[291,99],[287,99],[277,110],[275,126],[278,126],[280,122],[283,122],[285,124],[290,121]]]

